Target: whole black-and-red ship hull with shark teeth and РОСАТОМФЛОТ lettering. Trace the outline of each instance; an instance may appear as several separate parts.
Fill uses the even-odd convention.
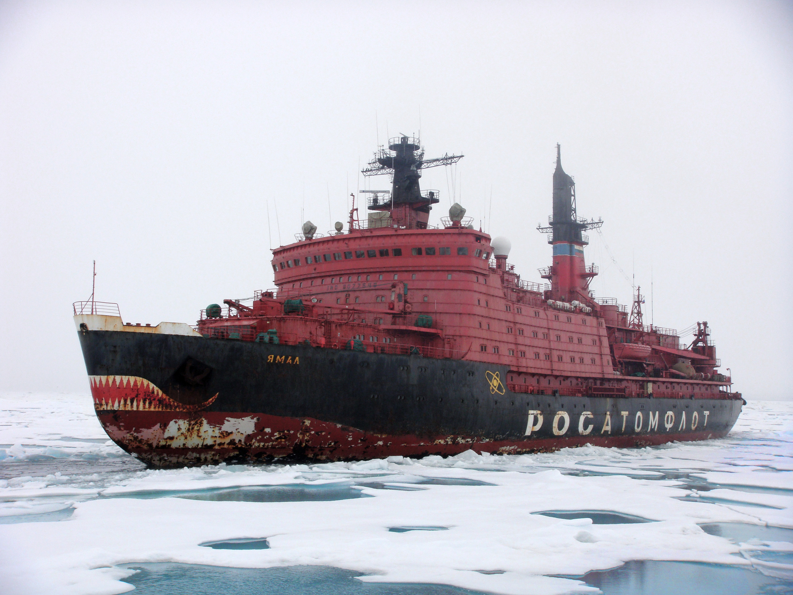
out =
[[[80,332],[108,436],[151,466],[521,454],[725,436],[737,398],[508,389],[508,368],[195,336]]]

